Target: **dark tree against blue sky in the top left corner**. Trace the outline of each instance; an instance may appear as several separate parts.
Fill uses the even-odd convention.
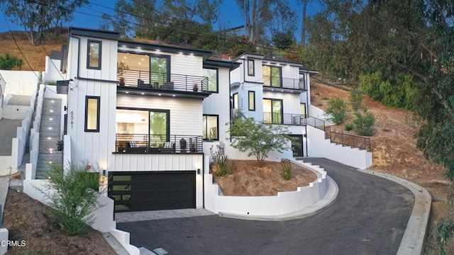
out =
[[[32,45],[39,45],[50,28],[71,21],[72,13],[88,0],[1,0],[6,16],[23,26]]]

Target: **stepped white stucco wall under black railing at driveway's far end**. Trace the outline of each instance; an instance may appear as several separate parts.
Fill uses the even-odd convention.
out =
[[[325,139],[325,132],[309,125],[307,145],[309,157],[324,157],[358,169],[367,169],[372,165],[371,152],[331,143],[331,140]]]

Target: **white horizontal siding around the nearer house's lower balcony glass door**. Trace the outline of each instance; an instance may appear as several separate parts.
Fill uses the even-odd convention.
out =
[[[170,110],[170,135],[202,135],[199,99],[118,95],[116,106]]]

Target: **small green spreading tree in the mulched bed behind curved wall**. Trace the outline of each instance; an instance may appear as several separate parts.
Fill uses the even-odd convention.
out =
[[[248,156],[254,155],[260,166],[271,151],[283,152],[288,149],[290,137],[284,135],[288,132],[282,125],[267,125],[253,120],[253,118],[237,119],[230,128],[231,134],[242,134],[235,137],[232,147],[240,152],[248,152]]]

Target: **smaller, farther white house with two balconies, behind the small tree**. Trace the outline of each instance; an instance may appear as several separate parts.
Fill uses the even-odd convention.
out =
[[[307,156],[309,79],[317,72],[304,69],[301,63],[268,60],[255,53],[233,61],[241,64],[231,74],[233,110],[260,122],[286,125],[292,137],[290,155]]]

